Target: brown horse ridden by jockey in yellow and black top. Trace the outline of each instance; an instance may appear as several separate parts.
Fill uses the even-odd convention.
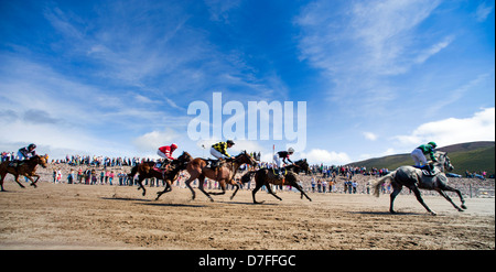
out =
[[[212,198],[211,195],[226,194],[226,184],[230,184],[236,187],[236,191],[233,193],[233,196],[230,197],[230,199],[233,199],[233,197],[239,189],[239,185],[237,184],[237,182],[234,181],[234,177],[239,166],[241,166],[245,163],[255,166],[257,162],[248,153],[246,153],[246,151],[242,151],[235,159],[226,159],[223,165],[217,168],[207,167],[207,161],[201,157],[196,157],[195,160],[191,161],[186,166],[186,170],[190,173],[190,178],[185,183],[186,186],[191,189],[191,193],[193,194],[192,200],[195,199],[196,194],[190,184],[196,178],[198,178],[200,182],[198,189],[202,191],[202,193],[205,194],[208,197],[208,199],[211,199],[211,202],[214,202],[214,198]],[[219,182],[223,192],[222,193],[205,192],[205,189],[203,188],[205,177]]]

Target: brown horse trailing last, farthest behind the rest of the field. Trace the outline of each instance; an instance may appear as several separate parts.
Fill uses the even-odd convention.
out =
[[[48,155],[44,155],[44,156],[34,155],[28,160],[22,161],[22,163],[20,163],[20,165],[18,165],[18,166],[9,166],[11,161],[2,162],[0,164],[1,191],[4,192],[3,179],[6,178],[7,173],[14,175],[15,182],[22,188],[25,188],[25,187],[24,187],[24,185],[22,185],[19,182],[19,176],[21,176],[21,175],[28,177],[31,181],[31,184],[30,184],[31,186],[36,187],[36,182],[37,182],[37,179],[40,179],[40,175],[36,175],[36,166],[40,164],[43,168],[46,168],[47,161],[48,161]],[[35,181],[33,179],[33,176],[36,177]]]

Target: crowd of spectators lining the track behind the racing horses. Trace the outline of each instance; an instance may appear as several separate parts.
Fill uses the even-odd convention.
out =
[[[255,155],[255,154],[254,154]],[[257,154],[260,156],[260,154]],[[14,152],[2,152],[1,162],[10,161],[14,156]],[[137,185],[138,177],[129,178],[128,173],[130,167],[136,166],[142,162],[153,161],[149,157],[109,157],[109,156],[96,156],[96,155],[66,155],[62,160],[51,160],[53,165],[53,183],[67,183],[67,184],[87,184],[87,185],[119,185],[119,186],[133,186]],[[273,163],[258,162],[255,167],[242,165],[239,170],[239,174],[245,171],[251,171],[257,168],[272,168]],[[69,167],[67,167],[69,166]],[[126,167],[128,166],[128,167]],[[367,168],[365,166],[352,166],[352,165],[324,165],[314,164],[310,165],[311,178],[306,177],[306,183],[300,184],[306,192],[312,193],[344,193],[344,194],[370,194],[370,182],[364,183],[364,177],[356,178],[356,175],[370,176],[370,179],[384,176],[389,173],[388,168]],[[481,172],[470,173],[466,171],[466,177],[477,177],[481,179],[486,178],[486,173]],[[174,186],[185,187],[184,182],[187,176],[182,173],[180,178],[174,182]],[[237,176],[239,178],[239,175]],[[360,186],[357,181],[362,181]],[[147,178],[143,182],[145,186],[164,186],[163,181],[157,181],[155,178]],[[194,181],[193,185],[196,185],[197,181]],[[205,187],[208,189],[219,188],[219,184],[216,181],[205,179]],[[250,189],[255,187],[255,181],[245,184],[241,188]],[[228,189],[231,186],[228,186]],[[265,189],[265,187],[262,187]],[[294,191],[290,186],[274,186],[274,191]],[[391,188],[389,184],[385,184],[382,187],[384,193],[390,193]]]

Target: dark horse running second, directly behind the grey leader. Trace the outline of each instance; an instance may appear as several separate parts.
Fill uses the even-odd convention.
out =
[[[310,166],[306,162],[306,159],[296,161],[294,164],[288,165],[283,167],[281,171],[284,175],[284,178],[279,178],[279,176],[273,172],[273,170],[270,168],[261,168],[258,171],[250,171],[242,175],[241,183],[247,183],[251,181],[251,176],[255,174],[255,182],[256,186],[255,189],[251,192],[251,195],[254,197],[254,204],[262,204],[263,202],[259,203],[255,199],[255,194],[261,188],[261,186],[266,185],[267,191],[273,195],[279,200],[282,200],[278,195],[276,195],[272,189],[270,188],[269,184],[273,185],[290,185],[292,187],[295,187],[301,193],[301,198],[303,199],[303,196],[305,196],[310,202],[312,199],[305,194],[303,188],[298,184],[298,175],[296,173],[301,170],[305,171],[305,173],[310,173]],[[296,173],[295,173],[296,171]]]

